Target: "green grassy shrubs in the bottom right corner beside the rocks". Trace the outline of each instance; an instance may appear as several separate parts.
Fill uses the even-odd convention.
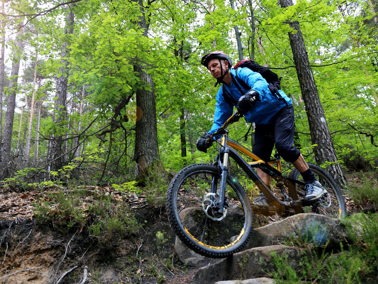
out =
[[[348,238],[353,242],[347,250],[340,244],[338,253],[314,248],[301,239],[288,240],[288,245],[305,248],[300,261],[300,270],[294,270],[286,254],[273,252],[274,270],[269,274],[279,284],[299,284],[305,282],[361,283],[375,278],[378,259],[378,215],[353,214],[342,220],[348,227]]]

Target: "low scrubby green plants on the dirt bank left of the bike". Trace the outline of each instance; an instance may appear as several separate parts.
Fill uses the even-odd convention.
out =
[[[47,198],[34,204],[37,222],[52,223],[62,231],[85,227],[91,238],[105,243],[141,228],[127,204],[110,195],[88,197],[87,191],[80,189],[45,194]]]

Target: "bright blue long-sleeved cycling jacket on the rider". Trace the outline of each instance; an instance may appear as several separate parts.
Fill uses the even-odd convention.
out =
[[[235,76],[235,69],[231,68],[230,72]],[[259,92],[259,101],[256,101],[253,108],[244,114],[247,122],[272,124],[274,115],[276,115],[280,109],[286,107],[283,100],[279,100],[276,95],[271,93],[268,89],[268,83],[260,73],[253,72],[251,69],[244,67],[237,70],[237,76],[250,88],[244,89],[236,80],[232,80],[230,87],[227,86],[227,84],[223,84],[220,87],[216,96],[217,104],[215,105],[214,123],[209,131],[210,134],[220,128],[234,111],[234,105],[227,103],[223,97],[223,88],[225,88],[228,94],[230,94],[236,101],[238,101],[239,98],[250,89]],[[240,91],[235,86],[234,82],[239,84],[239,87],[243,90],[243,94],[240,94]],[[291,105],[291,99],[283,91],[279,90],[279,93],[287,101],[288,105]]]

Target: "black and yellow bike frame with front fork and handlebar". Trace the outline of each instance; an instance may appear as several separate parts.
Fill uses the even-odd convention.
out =
[[[245,171],[250,179],[254,181],[256,186],[259,188],[260,192],[264,193],[265,196],[268,198],[269,203],[273,203],[274,206],[280,207],[285,209],[293,208],[296,212],[302,211],[302,201],[297,200],[297,190],[294,184],[301,184],[304,185],[301,181],[297,181],[296,179],[292,179],[289,177],[285,177],[281,173],[281,160],[280,158],[271,160],[269,162],[265,162],[256,156],[254,153],[249,151],[247,148],[240,145],[238,142],[228,138],[228,130],[227,127],[234,122],[233,118],[235,115],[240,115],[238,112],[235,112],[225,124],[216,131],[212,137],[222,134],[222,138],[220,139],[220,149],[219,154],[215,158],[214,165],[217,165],[220,168],[220,189],[219,189],[219,198],[215,200],[214,205],[218,210],[218,213],[223,214],[223,210],[228,204],[225,204],[225,190],[226,190],[226,179],[228,173],[228,158],[231,157],[235,160],[235,162]],[[247,155],[249,158],[253,160],[253,162],[247,162],[237,151],[242,152],[243,154]],[[277,169],[273,167],[274,164],[277,164]],[[270,175],[273,179],[277,181],[278,186],[286,186],[289,191],[289,195],[292,197],[293,200],[291,201],[282,201],[279,200],[276,195],[270,190],[270,188],[262,181],[262,179],[257,175],[257,173],[253,170],[254,168],[259,168],[263,172]],[[217,192],[217,183],[218,177],[213,177],[212,180],[212,193]],[[283,195],[285,195],[285,199],[289,199],[289,195],[287,195],[286,191],[282,190]],[[226,205],[226,206],[225,206]],[[309,205],[309,204],[306,204]]]

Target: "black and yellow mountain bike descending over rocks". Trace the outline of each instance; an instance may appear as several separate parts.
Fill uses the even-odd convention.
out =
[[[175,233],[187,247],[203,256],[223,258],[241,251],[251,237],[253,209],[246,191],[229,173],[231,159],[268,198],[270,204],[264,215],[277,213],[285,217],[310,211],[336,218],[345,216],[340,189],[321,167],[308,164],[327,193],[315,201],[301,200],[306,195],[305,183],[298,179],[297,170],[286,176],[282,174],[278,155],[276,159],[263,161],[230,139],[227,128],[240,117],[242,114],[236,111],[209,138],[211,141],[221,135],[214,164],[189,165],[169,184],[167,214]],[[256,168],[271,176],[278,192],[263,183],[254,171]]]

